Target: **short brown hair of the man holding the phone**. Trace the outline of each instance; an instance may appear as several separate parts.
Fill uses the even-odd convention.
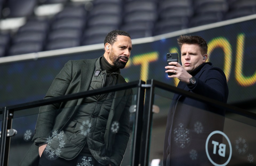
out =
[[[183,44],[198,44],[201,48],[201,53],[207,54],[207,42],[201,36],[181,35],[178,37],[177,41],[180,49]]]

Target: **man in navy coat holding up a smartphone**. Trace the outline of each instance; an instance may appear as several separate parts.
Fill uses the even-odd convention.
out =
[[[177,88],[226,103],[227,80],[222,69],[206,62],[207,42],[200,36],[180,36],[181,64],[170,62],[165,72],[178,78]],[[173,65],[173,66],[171,66]],[[205,144],[209,134],[223,131],[225,111],[208,103],[180,94],[174,94],[169,109],[163,150],[164,166],[212,165],[207,158]],[[214,141],[222,142],[222,136],[215,134]],[[211,142],[211,141],[209,141]],[[208,146],[210,152],[214,145]],[[212,154],[211,154],[212,155]],[[221,164],[223,157],[212,155],[211,159]]]

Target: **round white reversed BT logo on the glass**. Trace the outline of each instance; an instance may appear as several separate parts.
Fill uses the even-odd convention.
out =
[[[228,145],[224,144],[224,143],[219,143],[218,141],[215,141],[215,140],[212,140],[212,141],[209,141],[210,138],[214,135],[214,134],[221,134],[223,137],[226,138],[226,141],[228,142]],[[213,146],[213,150],[209,150],[208,149],[208,146],[212,147]],[[225,157],[226,155],[226,149],[228,148],[229,146],[229,157],[227,158],[226,162],[223,163],[223,164],[217,164],[216,162],[217,161],[214,161],[211,156],[213,155],[219,155],[221,157]],[[230,159],[231,159],[231,155],[232,155],[232,147],[231,147],[231,142],[229,140],[229,138],[227,137],[227,135],[221,131],[214,131],[214,132],[211,132],[209,134],[209,136],[207,137],[206,139],[206,143],[205,143],[205,150],[206,150],[206,155],[208,157],[208,159],[210,160],[210,162],[215,165],[215,166],[225,166],[229,163]],[[218,154],[217,154],[218,153]],[[226,158],[225,158],[226,159]]]

